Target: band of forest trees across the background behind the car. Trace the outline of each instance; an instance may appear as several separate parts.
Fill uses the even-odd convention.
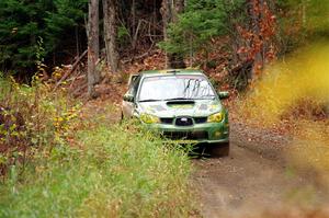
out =
[[[328,36],[328,2],[319,0],[3,0],[0,8],[0,69],[24,82],[37,61],[48,78],[55,67],[83,62],[87,48],[112,73],[160,49],[168,68],[224,65],[251,79],[265,62]]]

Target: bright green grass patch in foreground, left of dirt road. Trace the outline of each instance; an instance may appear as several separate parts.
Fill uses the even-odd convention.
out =
[[[188,217],[190,163],[132,124],[86,124],[80,145],[35,159],[0,187],[0,217]]]

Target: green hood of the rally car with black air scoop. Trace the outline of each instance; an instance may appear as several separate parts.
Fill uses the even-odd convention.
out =
[[[159,101],[137,104],[138,114],[146,113],[168,118],[178,116],[209,116],[222,111],[222,108],[223,106],[218,100]]]

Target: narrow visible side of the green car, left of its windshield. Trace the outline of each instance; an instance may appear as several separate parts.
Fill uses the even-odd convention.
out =
[[[139,79],[140,79],[139,74],[133,74],[129,78],[129,82],[128,82],[129,89],[127,93],[124,95],[124,100],[122,103],[122,112],[124,117],[131,118],[134,115],[135,97],[139,85]]]

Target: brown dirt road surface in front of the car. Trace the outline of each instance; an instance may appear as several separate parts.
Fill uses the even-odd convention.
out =
[[[327,188],[311,172],[299,173],[277,153],[256,152],[237,138],[232,136],[229,158],[193,161],[204,217],[264,217],[263,213],[328,206]]]

